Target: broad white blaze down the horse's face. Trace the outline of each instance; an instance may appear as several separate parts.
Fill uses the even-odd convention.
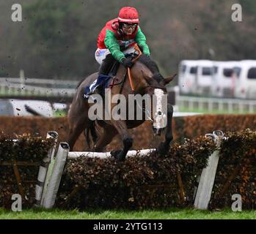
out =
[[[153,94],[153,132],[160,135],[167,126],[167,94],[161,88],[155,88]]]

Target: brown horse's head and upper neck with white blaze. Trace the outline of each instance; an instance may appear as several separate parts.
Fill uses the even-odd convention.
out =
[[[176,74],[164,78],[156,63],[144,55],[139,57],[134,65],[133,74],[136,91],[140,94],[149,94],[151,97],[150,110],[145,110],[145,113],[147,115],[150,113],[154,135],[161,135],[167,127],[168,105],[165,86],[175,78]],[[147,108],[147,105],[145,107]]]

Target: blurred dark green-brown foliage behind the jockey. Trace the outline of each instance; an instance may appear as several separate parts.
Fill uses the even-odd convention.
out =
[[[23,21],[12,22],[12,4]],[[232,4],[243,7],[233,22]],[[98,70],[97,37],[121,7],[136,7],[163,75],[182,59],[256,59],[255,0],[0,0],[0,76],[80,79]]]

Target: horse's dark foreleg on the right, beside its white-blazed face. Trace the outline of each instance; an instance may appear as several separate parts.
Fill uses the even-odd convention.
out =
[[[168,104],[167,108],[167,128],[165,133],[165,140],[161,142],[158,146],[158,154],[164,156],[169,151],[169,144],[172,142],[172,114],[173,114],[173,107],[172,105]]]

